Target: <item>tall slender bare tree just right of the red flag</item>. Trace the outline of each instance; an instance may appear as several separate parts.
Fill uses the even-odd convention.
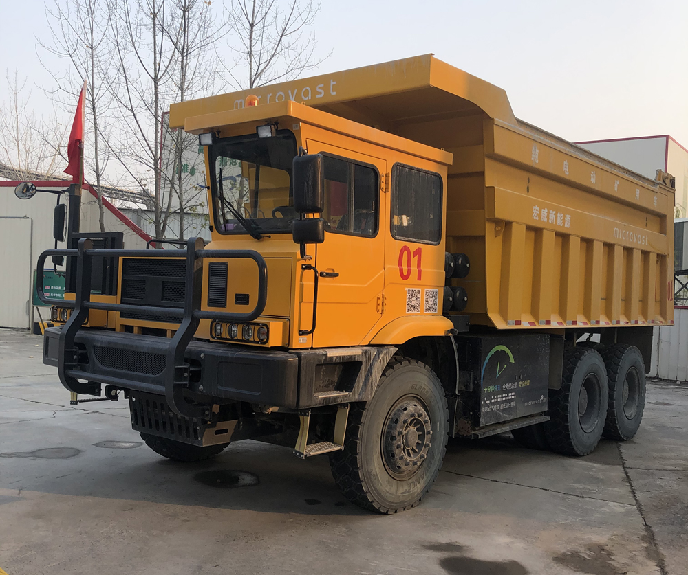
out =
[[[111,67],[110,12],[107,5],[98,0],[54,0],[52,10],[46,8],[45,16],[52,38],[50,43],[39,41],[39,45],[49,54],[69,62],[69,67],[61,72],[43,64],[54,80],[54,87],[46,91],[62,109],[73,113],[79,90],[86,82],[84,167],[95,177],[98,222],[100,231],[105,232],[103,184],[109,152],[103,139],[109,134],[105,115],[112,102],[108,74]]]

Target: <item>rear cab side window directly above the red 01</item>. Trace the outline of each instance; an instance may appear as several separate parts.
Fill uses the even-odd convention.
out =
[[[391,236],[434,244],[442,235],[442,177],[412,166],[391,168]]]

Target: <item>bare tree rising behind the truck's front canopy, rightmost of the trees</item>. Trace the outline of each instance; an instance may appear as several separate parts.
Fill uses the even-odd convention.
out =
[[[235,67],[224,67],[232,87],[293,80],[319,65],[315,34],[308,32],[319,11],[316,0],[232,0],[228,22]]]

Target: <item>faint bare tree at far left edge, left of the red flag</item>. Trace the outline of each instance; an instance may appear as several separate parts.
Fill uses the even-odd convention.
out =
[[[66,128],[56,115],[37,117],[31,91],[19,72],[6,74],[9,100],[0,106],[0,173],[13,180],[55,177],[62,166],[60,142]]]

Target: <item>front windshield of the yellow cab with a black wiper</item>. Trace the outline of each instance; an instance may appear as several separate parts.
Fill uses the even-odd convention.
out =
[[[220,140],[209,150],[215,228],[221,234],[290,232],[296,140],[288,130]]]

